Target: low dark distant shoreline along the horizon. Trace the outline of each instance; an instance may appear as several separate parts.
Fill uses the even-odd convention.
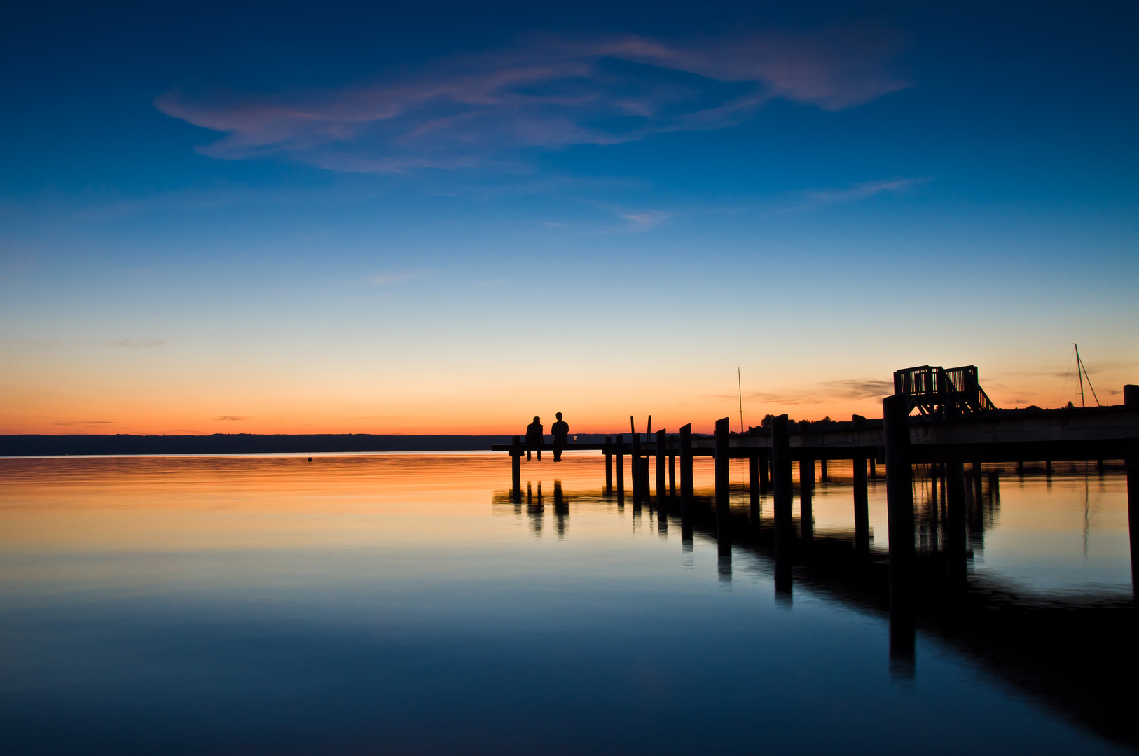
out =
[[[600,443],[604,434],[579,434],[580,443]],[[208,436],[8,435],[0,436],[0,457],[122,454],[300,454],[328,452],[466,452],[508,444],[509,435],[378,434],[212,434]]]

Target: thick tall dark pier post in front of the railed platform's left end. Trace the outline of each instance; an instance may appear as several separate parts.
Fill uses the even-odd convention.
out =
[[[913,470],[910,467],[910,397],[882,400],[886,441],[886,517],[890,523],[890,603],[909,603],[913,561]]]

